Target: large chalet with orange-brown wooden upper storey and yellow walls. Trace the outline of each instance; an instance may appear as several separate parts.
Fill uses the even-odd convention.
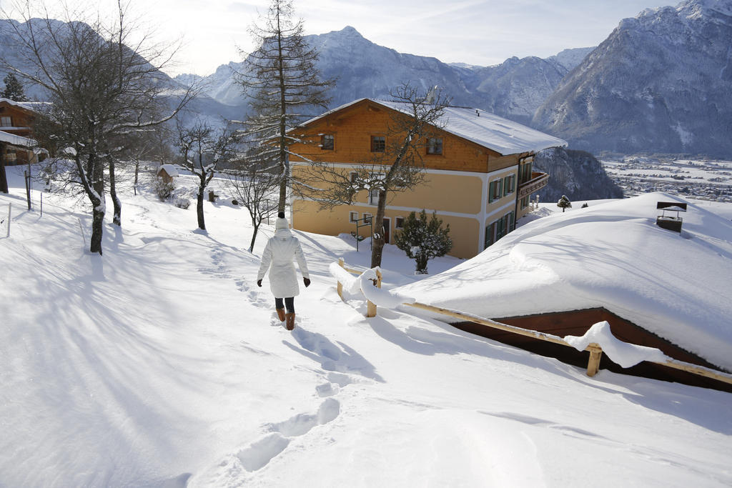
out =
[[[303,143],[291,146],[294,180],[313,170],[295,154],[328,163],[344,172],[373,160],[374,152],[388,147],[387,127],[395,112],[406,112],[400,102],[361,99],[330,110],[298,127],[319,138],[318,149]],[[412,211],[436,211],[450,226],[450,255],[472,258],[515,228],[529,211],[531,193],[544,187],[548,174],[532,168],[537,151],[567,143],[485,110],[447,107],[425,144],[425,181],[406,192],[390,192],[384,214],[387,243]],[[434,137],[433,137],[434,136]],[[371,192],[356,195],[353,205],[321,209],[317,190],[294,195],[291,223],[297,230],[337,235],[356,230],[376,214]],[[376,222],[374,231],[376,231]],[[359,231],[362,233],[362,230]],[[366,235],[367,236],[367,235]]]

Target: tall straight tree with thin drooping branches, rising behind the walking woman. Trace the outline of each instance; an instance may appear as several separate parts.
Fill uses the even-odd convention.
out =
[[[251,29],[259,46],[244,60],[238,81],[250,97],[252,115],[244,122],[246,132],[266,144],[264,159],[279,168],[279,211],[287,201],[289,146],[294,138],[288,129],[307,115],[307,110],[326,108],[326,91],[335,80],[321,80],[315,67],[318,52],[302,37],[302,20],[293,20],[289,0],[272,0],[263,25]]]

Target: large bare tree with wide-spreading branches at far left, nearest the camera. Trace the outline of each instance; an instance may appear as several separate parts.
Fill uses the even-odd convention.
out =
[[[165,106],[169,87],[160,68],[171,57],[159,46],[148,47],[149,38],[138,35],[121,0],[109,23],[100,16],[83,22],[79,19],[85,15],[69,7],[65,22],[54,20],[45,8],[35,18],[35,6],[30,0],[20,4],[17,15],[24,23],[12,24],[24,64],[31,68],[7,63],[4,68],[45,89],[50,102],[45,122],[34,130],[59,149],[70,148],[64,150],[72,162],[65,182],[81,185],[91,204],[90,250],[101,255],[105,165],[116,141],[171,119],[194,92],[184,91],[172,107]],[[163,110],[166,115],[160,116]]]

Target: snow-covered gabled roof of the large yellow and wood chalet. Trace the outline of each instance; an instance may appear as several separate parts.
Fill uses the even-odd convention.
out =
[[[321,116],[310,119],[305,124],[310,124],[310,122],[347,108],[362,100],[370,100],[371,102],[384,105],[393,110],[409,113],[408,110],[405,110],[407,105],[403,102],[362,98],[329,110]],[[567,141],[564,139],[555,138],[552,135],[493,115],[493,113],[480,110],[479,108],[447,107],[444,109],[444,114],[439,119],[438,124],[446,132],[458,135],[463,139],[470,140],[488,149],[493,149],[493,151],[503,155],[537,152],[549,147],[567,146]]]

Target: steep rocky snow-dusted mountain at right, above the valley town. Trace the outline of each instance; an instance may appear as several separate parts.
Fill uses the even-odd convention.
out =
[[[732,154],[732,1],[687,0],[621,21],[537,110],[591,151]]]

